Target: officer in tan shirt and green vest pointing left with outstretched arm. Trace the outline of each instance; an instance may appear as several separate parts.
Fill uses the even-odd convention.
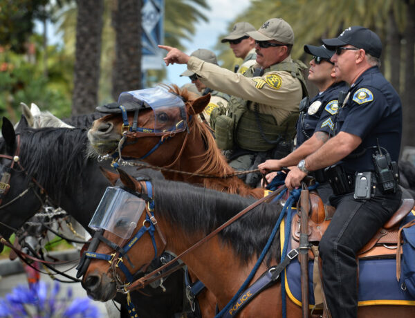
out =
[[[274,18],[247,35],[255,39],[257,64],[243,75],[190,57],[177,48],[159,46],[169,51],[164,58],[167,66],[187,64],[203,84],[232,95],[229,111],[214,111],[210,119],[219,148],[232,149],[228,158],[237,170],[256,168],[260,163],[257,157],[264,161],[266,156],[282,158],[291,152],[298,105],[307,95],[301,72],[306,66],[291,59],[291,26]]]

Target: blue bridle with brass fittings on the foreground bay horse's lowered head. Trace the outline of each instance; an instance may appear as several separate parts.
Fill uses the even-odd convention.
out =
[[[145,270],[147,270],[150,263],[155,261],[158,257],[158,248],[157,248],[156,239],[154,236],[156,231],[158,232],[158,236],[160,236],[160,239],[163,242],[163,247],[160,250],[162,252],[165,250],[167,243],[166,243],[165,237],[163,236],[163,233],[160,231],[160,228],[157,225],[157,220],[154,217],[154,200],[152,198],[152,185],[149,181],[145,181],[145,188],[147,189],[147,194],[137,193],[137,192],[133,193],[134,195],[140,198],[143,198],[145,201],[147,201],[147,205],[145,207],[145,220],[143,221],[142,227],[140,228],[140,230],[138,230],[138,232],[129,241],[123,240],[120,245],[117,245],[116,243],[113,243],[109,241],[107,238],[105,238],[103,236],[104,230],[95,232],[93,239],[91,241],[91,244],[89,245],[89,249],[86,252],[84,252],[84,254],[82,254],[81,261],[79,265],[77,266],[77,270],[78,270],[76,274],[77,278],[85,274],[87,268],[89,267],[89,263],[91,259],[101,259],[104,261],[108,261],[111,265],[111,274],[113,276],[114,281],[116,281],[118,292],[127,294],[129,291],[126,289],[126,287],[129,286],[130,283],[133,283],[134,281],[133,277],[138,272],[145,272]],[[129,264],[131,265],[131,268],[134,268],[134,265],[131,263],[129,256],[127,255],[127,252],[129,252],[131,247],[133,247],[133,245],[137,243],[138,240],[146,232],[149,233],[149,236],[151,237],[151,241],[153,243],[154,259],[152,259],[149,263],[142,265],[142,267],[139,268],[135,274],[132,274],[128,270],[127,266],[124,264],[123,258],[127,259]],[[95,250],[98,247],[100,241],[107,244],[115,252],[113,252],[112,254],[96,253]],[[126,243],[123,244],[124,242]],[[116,268],[120,268],[120,270],[122,270],[128,283],[124,283],[122,279],[120,279],[120,276],[118,275]]]

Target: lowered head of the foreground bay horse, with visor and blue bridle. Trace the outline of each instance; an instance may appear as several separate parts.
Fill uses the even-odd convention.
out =
[[[109,187],[102,197],[91,220],[91,226],[95,226],[95,220],[100,223],[95,227],[98,232],[84,253],[78,272],[78,276],[84,276],[82,287],[100,301],[115,297],[165,249],[163,234],[156,231],[158,225],[151,211],[151,185],[118,171],[122,188]],[[108,171],[104,175],[111,183],[115,180]],[[109,206],[109,201],[116,206],[115,210],[102,210]],[[107,220],[109,217],[111,221]],[[102,219],[107,222],[102,223]],[[131,254],[133,250],[138,252]]]

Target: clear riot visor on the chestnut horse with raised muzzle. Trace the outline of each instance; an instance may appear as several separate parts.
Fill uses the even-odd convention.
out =
[[[186,129],[185,103],[178,95],[161,87],[123,92],[118,98],[118,105],[126,111],[151,108],[154,112],[154,129],[139,127],[143,133],[178,133]]]

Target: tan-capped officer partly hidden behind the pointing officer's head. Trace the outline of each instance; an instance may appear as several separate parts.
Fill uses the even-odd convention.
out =
[[[232,32],[221,40],[222,43],[229,42],[229,46],[232,48],[235,57],[243,59],[241,66],[235,67],[235,72],[243,74],[250,66],[256,63],[255,39],[246,35],[247,32],[256,30],[248,22],[238,22],[233,26]]]

